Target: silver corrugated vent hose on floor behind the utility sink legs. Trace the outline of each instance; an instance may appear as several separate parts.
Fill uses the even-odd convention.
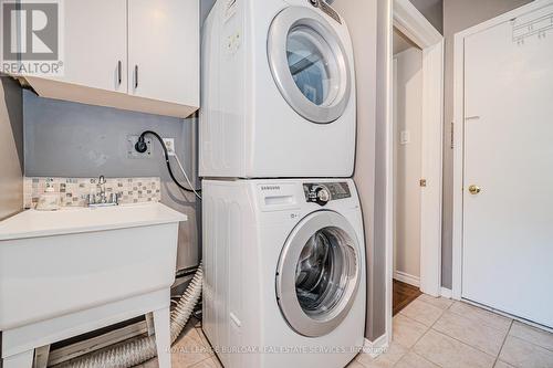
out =
[[[201,296],[204,278],[202,266],[198,267],[192,281],[171,312],[171,344],[185,328],[194,307]],[[167,353],[168,354],[168,353]],[[143,364],[157,355],[155,336],[133,339],[124,345],[114,346],[70,361],[56,365],[55,368],[128,368]]]

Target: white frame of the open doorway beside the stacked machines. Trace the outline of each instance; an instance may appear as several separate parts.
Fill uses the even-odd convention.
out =
[[[393,27],[422,50],[422,160],[421,178],[427,187],[420,196],[420,290],[434,296],[441,293],[441,214],[444,156],[444,36],[409,0],[394,0]],[[390,30],[392,31],[392,30]],[[393,36],[390,32],[389,36]],[[388,64],[393,65],[389,50]],[[388,81],[392,81],[389,67]],[[394,86],[389,84],[392,98]],[[394,275],[394,106],[388,103],[386,117],[386,329],[392,338],[392,297]]]

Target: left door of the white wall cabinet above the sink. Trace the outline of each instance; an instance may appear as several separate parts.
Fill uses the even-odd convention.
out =
[[[127,92],[127,1],[64,1],[64,76],[87,87]]]

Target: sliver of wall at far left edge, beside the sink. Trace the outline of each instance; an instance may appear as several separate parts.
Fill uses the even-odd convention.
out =
[[[23,114],[19,83],[0,74],[0,220],[23,207]]]

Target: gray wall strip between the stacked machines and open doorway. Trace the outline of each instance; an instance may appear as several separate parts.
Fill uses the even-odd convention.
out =
[[[374,340],[385,333],[386,260],[384,244],[385,154],[383,104],[386,96],[386,7],[389,0],[336,0],[333,7],[346,20],[355,49],[357,81],[357,153],[354,179],[359,192],[367,261],[367,316],[365,336]],[[377,20],[384,20],[378,22]],[[383,90],[384,88],[384,90]],[[378,165],[377,165],[378,162]]]

